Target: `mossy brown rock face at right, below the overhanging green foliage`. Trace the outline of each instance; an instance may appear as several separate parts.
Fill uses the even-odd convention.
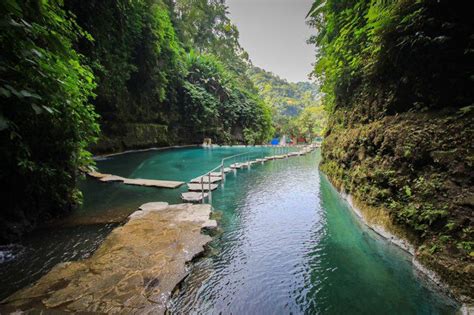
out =
[[[333,121],[321,164],[366,215],[410,240],[417,259],[463,302],[474,293],[473,126],[472,107]]]

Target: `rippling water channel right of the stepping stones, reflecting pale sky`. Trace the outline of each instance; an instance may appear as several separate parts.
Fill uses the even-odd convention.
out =
[[[227,177],[213,194],[223,212],[223,234],[212,245],[218,251],[196,264],[172,313],[454,311],[418,282],[401,251],[355,221],[322,182],[318,159],[273,161]]]

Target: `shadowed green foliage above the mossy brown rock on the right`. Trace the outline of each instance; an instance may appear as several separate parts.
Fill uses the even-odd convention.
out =
[[[360,107],[360,94],[381,113],[471,105],[468,11],[448,1],[316,0],[310,42],[325,104]]]

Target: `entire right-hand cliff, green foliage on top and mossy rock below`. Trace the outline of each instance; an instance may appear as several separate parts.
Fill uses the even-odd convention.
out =
[[[472,17],[449,1],[316,0],[322,170],[383,209],[459,296],[474,282]]]

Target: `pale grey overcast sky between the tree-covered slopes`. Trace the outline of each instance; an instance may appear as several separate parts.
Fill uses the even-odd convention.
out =
[[[312,0],[227,0],[240,44],[253,64],[290,82],[308,81],[315,59],[305,23]]]

